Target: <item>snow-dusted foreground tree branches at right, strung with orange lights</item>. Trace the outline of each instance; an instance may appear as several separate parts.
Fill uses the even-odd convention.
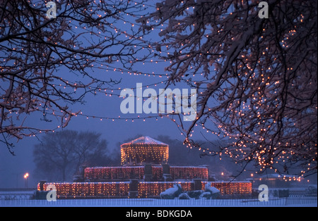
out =
[[[266,3],[269,18],[259,1],[163,0],[138,21],[161,30],[153,56],[169,62],[167,87],[197,89],[196,120],[178,125],[187,144],[305,177],[317,173],[317,1]],[[205,149],[196,126],[234,141]]]

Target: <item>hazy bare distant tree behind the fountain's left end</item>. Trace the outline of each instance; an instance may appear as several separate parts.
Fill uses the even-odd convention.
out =
[[[112,164],[107,141],[95,132],[64,130],[45,134],[33,151],[35,173],[49,180],[71,181],[80,165]]]

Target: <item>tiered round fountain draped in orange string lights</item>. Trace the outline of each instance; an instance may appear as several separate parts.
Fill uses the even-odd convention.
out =
[[[57,198],[156,198],[174,184],[195,191],[211,183],[221,195],[252,193],[251,182],[215,182],[207,166],[171,166],[168,158],[167,144],[140,137],[121,145],[121,166],[81,167],[73,182],[40,182],[37,189],[54,184]]]

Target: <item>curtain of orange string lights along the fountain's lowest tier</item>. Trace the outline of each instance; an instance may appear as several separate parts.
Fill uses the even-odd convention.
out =
[[[208,182],[201,182],[201,189],[204,190]],[[245,195],[252,193],[251,182],[209,182],[211,187],[220,190],[224,195]],[[45,183],[43,189],[54,184],[57,189],[58,198],[81,198],[81,197],[129,197],[130,182],[64,182]],[[182,187],[182,191],[192,191],[193,182],[139,182],[137,190],[139,198],[160,196],[166,189],[172,188],[175,184]],[[40,184],[37,184],[40,191]]]

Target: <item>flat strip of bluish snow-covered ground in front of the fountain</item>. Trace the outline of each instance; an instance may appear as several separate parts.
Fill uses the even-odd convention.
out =
[[[46,200],[0,200],[0,207],[317,207],[317,197],[276,198],[267,202],[257,199],[152,199],[152,198],[116,198],[116,199],[68,199],[57,201]]]

